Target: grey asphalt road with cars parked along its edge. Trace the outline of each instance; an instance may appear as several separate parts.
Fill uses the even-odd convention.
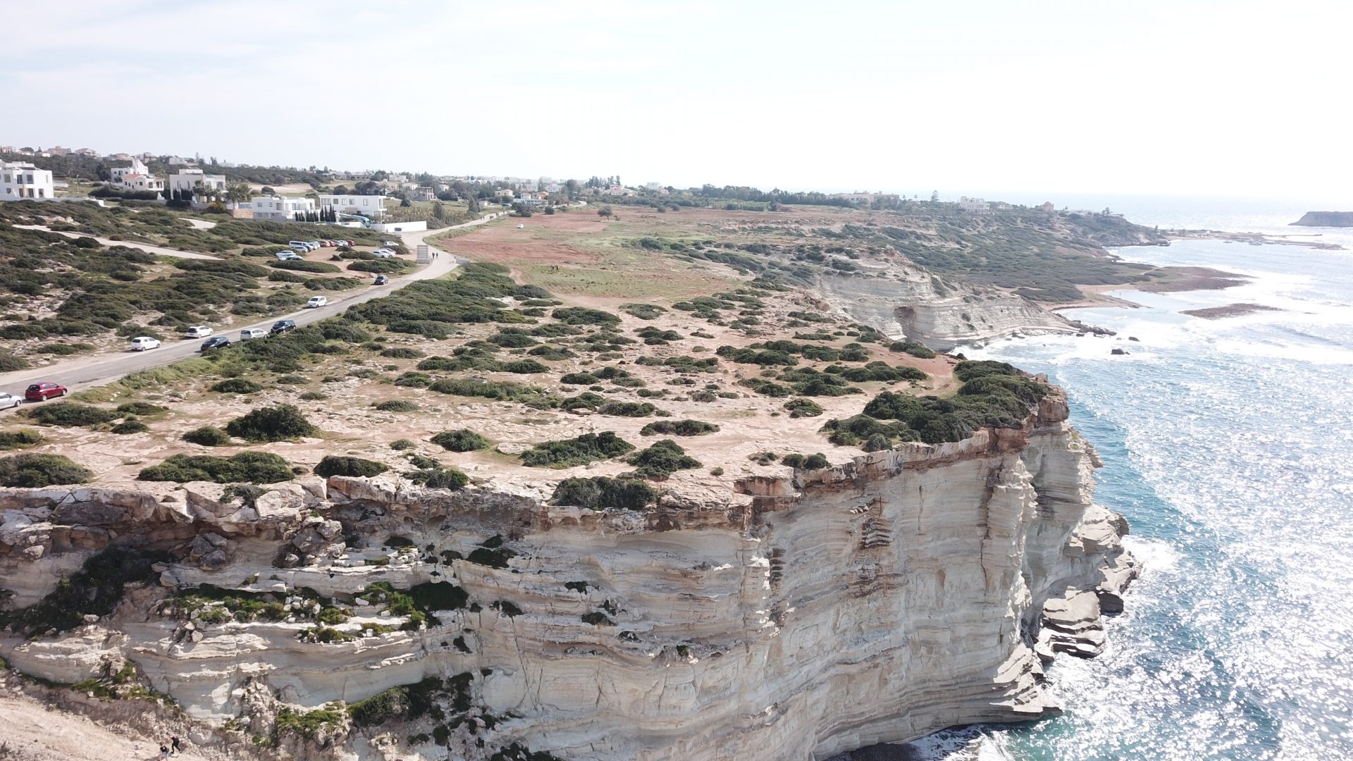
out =
[[[498,215],[483,217],[472,222],[465,222],[463,225],[453,225],[451,227],[441,227],[437,230],[426,230],[421,233],[403,233],[392,234],[392,237],[399,237],[405,246],[410,252],[415,252],[418,245],[423,242],[425,238],[452,230],[455,227],[472,227],[475,225],[483,225],[490,219],[495,219]],[[126,245],[126,244],[123,244]],[[269,329],[277,320],[295,320],[296,325],[308,325],[311,322],[318,322],[326,317],[334,317],[341,314],[349,306],[371,301],[373,298],[380,298],[390,295],[399,288],[415,283],[418,280],[428,280],[432,278],[440,278],[457,267],[456,257],[429,246],[429,252],[437,253],[437,257],[432,260],[430,264],[425,265],[422,269],[415,269],[414,272],[405,275],[402,278],[391,279],[388,286],[368,286],[364,291],[350,295],[344,299],[330,301],[329,305],[321,306],[318,309],[302,309],[291,314],[279,314],[276,317],[269,317],[262,322],[256,322],[252,325],[239,325],[231,328],[230,330],[218,332],[218,336],[227,336],[231,341],[239,340],[239,330],[244,328],[262,328]],[[183,252],[176,252],[183,256]],[[206,255],[199,255],[206,257]],[[215,259],[215,257],[208,257]],[[65,362],[58,362],[49,364],[46,367],[35,370],[20,370],[15,372],[0,374],[0,390],[9,391],[11,394],[23,395],[24,389],[30,383],[37,382],[50,382],[61,383],[70,390],[77,390],[81,387],[100,386],[103,383],[111,383],[129,372],[137,372],[139,370],[149,370],[152,367],[162,367],[165,364],[172,364],[175,362],[196,356],[199,348],[202,347],[204,339],[166,339],[158,349],[150,349],[143,352],[124,351],[114,355],[95,355],[85,357],[74,357]],[[260,339],[254,339],[260,340]]]

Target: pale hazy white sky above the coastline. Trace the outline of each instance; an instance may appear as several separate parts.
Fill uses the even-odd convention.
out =
[[[8,14],[5,145],[675,186],[1353,202],[1353,9],[1335,0],[30,9]]]

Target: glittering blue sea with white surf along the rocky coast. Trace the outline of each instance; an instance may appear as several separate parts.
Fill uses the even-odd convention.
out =
[[[1353,229],[1288,226],[1353,206],[1082,203],[1162,230],[1296,234],[1345,251],[1214,240],[1115,249],[1250,280],[1114,291],[1134,306],[1066,311],[1116,337],[957,349],[1066,389],[1072,422],[1104,460],[1096,501],[1127,516],[1143,571],[1108,620],[1108,650],[1050,668],[1062,716],[948,730],[912,749],[936,761],[1353,758]],[[1237,302],[1275,309],[1181,314]]]

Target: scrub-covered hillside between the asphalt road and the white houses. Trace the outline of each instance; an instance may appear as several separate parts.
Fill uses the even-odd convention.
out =
[[[12,225],[46,225],[81,236]],[[200,230],[183,214],[154,204],[3,203],[0,343],[7,356],[50,357],[92,351],[115,336],[165,337],[199,322],[223,326],[233,317],[292,311],[314,291],[350,290],[368,282],[369,265],[376,263],[361,260],[371,255],[360,251],[340,255],[353,257],[340,263],[310,261],[299,272],[292,263],[277,267],[272,256],[296,236],[334,234],[336,227],[233,219]],[[206,252],[218,260],[106,246],[92,236]],[[379,242],[367,230],[345,229],[342,236],[361,238],[367,246]],[[334,252],[321,249],[310,257],[329,260]],[[390,261],[386,268],[410,267]]]

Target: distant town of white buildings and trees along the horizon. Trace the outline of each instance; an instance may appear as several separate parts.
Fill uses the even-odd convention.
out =
[[[337,171],[326,168],[256,167],[215,157],[152,153],[100,153],[89,148],[0,146],[0,200],[106,199],[145,200],[177,209],[227,214],[238,219],[325,222],[350,227],[402,232],[452,223],[483,213],[484,206],[529,217],[583,200],[651,206],[660,211],[706,206],[770,210],[779,204],[824,204],[889,210],[940,203],[890,192],[760,191],[751,187],[675,188],[658,181],[630,186],[618,176],[587,180],[426,172]],[[729,200],[732,199],[732,200]],[[455,204],[455,206],[448,206]],[[992,214],[1023,206],[961,196],[951,207],[965,214]],[[1040,204],[1054,211],[1051,202]],[[1062,210],[1080,214],[1104,211]]]

